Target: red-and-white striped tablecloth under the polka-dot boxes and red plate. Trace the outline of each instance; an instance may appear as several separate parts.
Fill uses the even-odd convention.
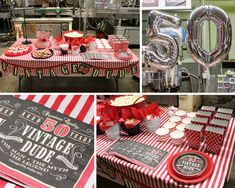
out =
[[[161,116],[161,126],[164,125],[169,119],[167,115],[168,110]],[[234,152],[235,152],[235,121],[231,119],[227,135],[225,137],[221,152],[219,155],[209,154],[212,158],[215,169],[211,177],[207,180],[195,184],[184,185],[175,182],[167,172],[167,160],[168,158],[176,154],[179,151],[189,149],[187,144],[181,147],[173,146],[170,142],[158,142],[156,135],[148,133],[144,126],[141,127],[142,132],[139,135],[121,138],[127,140],[133,140],[136,142],[144,143],[156,148],[160,148],[169,152],[167,157],[159,164],[156,170],[140,167],[138,165],[129,163],[125,160],[117,158],[115,156],[105,154],[105,151],[115,142],[107,139],[106,135],[97,136],[96,141],[96,153],[97,161],[100,159],[105,160],[110,164],[118,173],[123,174],[123,177],[132,180],[128,182],[128,186],[138,187],[195,187],[195,188],[219,188],[223,187],[224,183],[229,180],[230,171],[232,167]],[[202,146],[200,151],[205,151],[205,147]]]

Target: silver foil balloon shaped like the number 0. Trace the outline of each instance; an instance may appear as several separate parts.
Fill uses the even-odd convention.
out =
[[[202,25],[212,21],[216,25],[217,41],[215,48],[207,52],[201,46]],[[211,67],[228,55],[232,42],[232,26],[226,12],[215,6],[202,6],[195,9],[188,21],[187,46],[192,58],[205,67]]]

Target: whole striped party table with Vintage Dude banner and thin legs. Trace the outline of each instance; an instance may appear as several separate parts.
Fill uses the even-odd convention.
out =
[[[21,44],[24,39],[18,39],[14,45]],[[31,39],[32,48],[35,49],[36,40]],[[81,53],[77,56],[70,52],[67,55],[60,55],[59,50],[53,50],[52,57],[47,59],[35,59],[31,53],[9,57],[6,55],[0,56],[1,70],[5,74],[13,74],[19,76],[19,90],[21,90],[22,77],[43,76],[58,77],[58,76],[91,76],[91,77],[106,77],[112,76],[116,80],[118,90],[118,79],[125,77],[126,74],[136,75],[139,73],[138,57],[128,51],[132,59],[129,61],[119,60],[115,57],[114,52],[87,50],[83,54],[105,54],[108,59],[91,60],[84,59]]]

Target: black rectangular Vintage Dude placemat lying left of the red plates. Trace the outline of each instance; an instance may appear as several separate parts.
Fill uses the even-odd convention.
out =
[[[167,155],[166,151],[131,140],[118,140],[106,152],[152,169]]]

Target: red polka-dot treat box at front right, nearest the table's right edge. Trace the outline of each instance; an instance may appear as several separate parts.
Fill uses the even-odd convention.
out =
[[[211,126],[206,127],[205,129],[206,151],[218,154],[224,142],[224,133],[225,130],[223,128],[217,128]]]

